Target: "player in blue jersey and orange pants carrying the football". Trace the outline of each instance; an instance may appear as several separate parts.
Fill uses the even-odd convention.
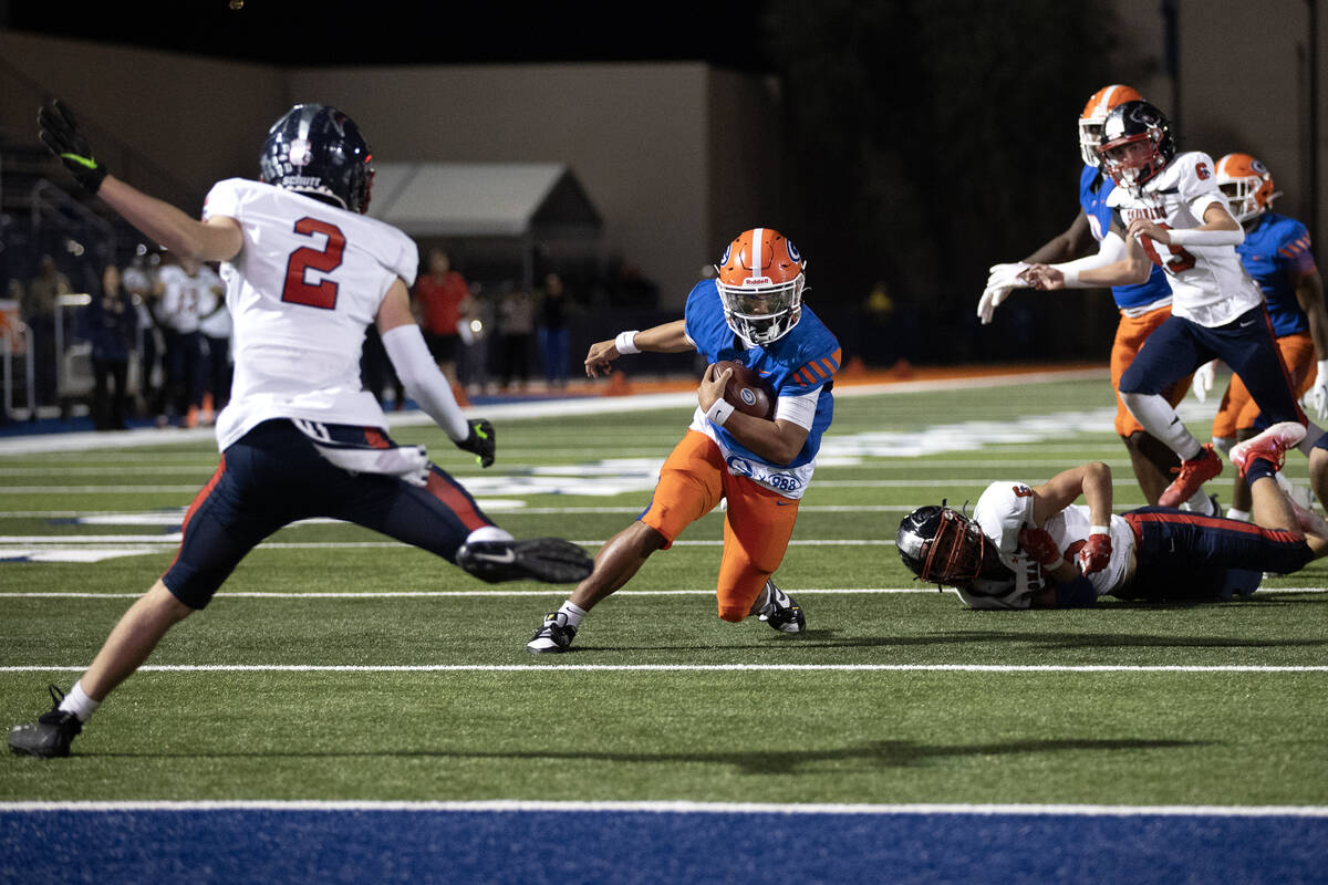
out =
[[[567,602],[544,616],[526,647],[567,651],[582,618],[623,586],[655,551],[728,502],[724,555],[716,585],[718,616],[756,614],[776,630],[799,633],[806,618],[770,577],[784,560],[798,503],[811,480],[821,435],[834,417],[835,337],[802,303],[806,261],[778,231],[754,228],[724,252],[718,276],[701,280],[684,317],[623,332],[586,356],[586,374],[611,370],[620,356],[696,352],[709,366],[697,387],[697,409],[683,441],[664,462],[645,511],[595,557],[595,571]],[[776,410],[758,418],[724,398],[736,361],[760,373],[776,394]]]

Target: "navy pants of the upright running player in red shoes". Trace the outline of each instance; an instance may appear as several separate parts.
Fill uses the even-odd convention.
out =
[[[1183,317],[1170,317],[1153,330],[1121,375],[1121,393],[1162,394],[1210,360],[1222,360],[1240,375],[1268,423],[1305,423],[1274,340],[1268,312],[1262,306],[1212,329]]]

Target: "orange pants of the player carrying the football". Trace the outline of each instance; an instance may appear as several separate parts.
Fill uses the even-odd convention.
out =
[[[752,613],[766,580],[784,561],[798,502],[746,476],[734,476],[720,447],[705,434],[688,430],[664,462],[655,496],[640,520],[664,536],[668,549],[684,528],[714,510],[721,499],[728,499],[729,508],[714,594],[720,617],[737,622]]]

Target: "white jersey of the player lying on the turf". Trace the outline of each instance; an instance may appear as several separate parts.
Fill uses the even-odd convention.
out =
[[[1041,567],[1019,547],[1019,532],[1038,528],[1033,521],[1033,490],[1020,482],[996,482],[983,491],[973,506],[973,521],[995,544],[1000,561],[1013,572],[1005,580],[979,579],[959,590],[960,598],[975,609],[1027,609],[1033,596],[1046,586]],[[1041,525],[1056,545],[1070,559],[1088,540],[1092,521],[1089,508],[1070,504]],[[1101,572],[1088,576],[1098,596],[1117,589],[1126,577],[1134,551],[1134,532],[1121,516],[1112,516],[1112,559]]]

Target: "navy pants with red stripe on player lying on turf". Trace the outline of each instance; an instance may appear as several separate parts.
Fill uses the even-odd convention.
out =
[[[1195,600],[1254,590],[1264,572],[1291,575],[1313,559],[1293,532],[1167,507],[1125,513],[1138,567],[1125,598]]]

